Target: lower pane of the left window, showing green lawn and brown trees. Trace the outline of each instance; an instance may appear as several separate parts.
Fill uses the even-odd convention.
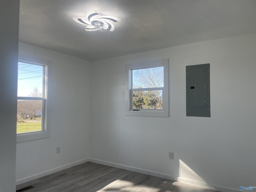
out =
[[[42,100],[17,100],[17,133],[42,130]]]

